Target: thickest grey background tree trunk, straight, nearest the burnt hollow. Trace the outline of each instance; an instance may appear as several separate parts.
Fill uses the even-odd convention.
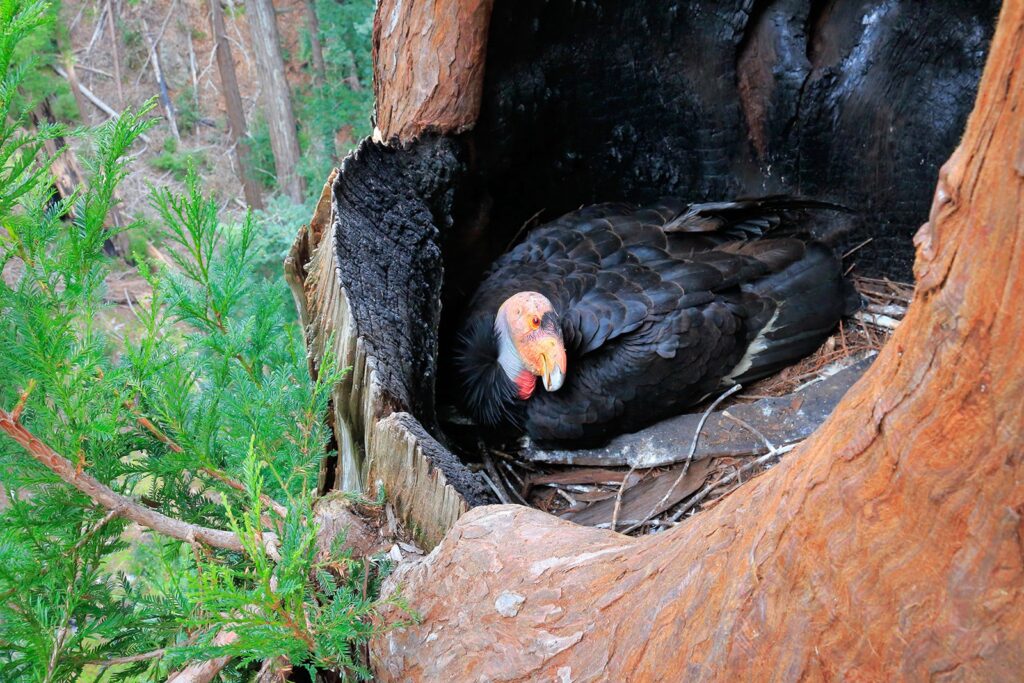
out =
[[[292,93],[285,78],[281,57],[278,20],[270,0],[246,0],[246,14],[252,36],[256,68],[263,86],[263,111],[270,129],[270,146],[278,184],[295,202],[305,200],[305,183],[298,173],[299,137],[292,112]]]

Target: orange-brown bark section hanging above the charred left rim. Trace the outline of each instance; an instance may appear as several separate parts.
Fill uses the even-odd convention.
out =
[[[493,0],[383,0],[374,15],[377,128],[402,141],[476,122]]]

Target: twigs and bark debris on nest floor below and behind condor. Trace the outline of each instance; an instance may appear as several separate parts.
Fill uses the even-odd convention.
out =
[[[845,318],[813,354],[745,387],[719,409],[783,396],[838,366],[877,352],[903,318],[913,288],[884,279],[853,278],[863,306]],[[723,457],[647,470],[524,463],[493,451],[480,469],[496,495],[582,524],[631,535],[671,528],[715,506],[740,484],[775,465],[796,444],[767,454]]]

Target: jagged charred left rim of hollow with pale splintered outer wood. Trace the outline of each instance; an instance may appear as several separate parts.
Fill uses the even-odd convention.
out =
[[[438,231],[453,220],[462,173],[451,140],[364,141],[325,185],[285,265],[311,372],[328,354],[350,369],[333,392],[338,457],[322,489],[383,486],[428,546],[469,506],[494,500],[424,427],[436,433]]]

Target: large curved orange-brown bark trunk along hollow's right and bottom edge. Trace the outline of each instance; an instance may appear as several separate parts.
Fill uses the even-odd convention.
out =
[[[1024,0],[916,237],[904,324],[803,447],[672,531],[515,506],[402,567],[385,680],[1018,680]]]

